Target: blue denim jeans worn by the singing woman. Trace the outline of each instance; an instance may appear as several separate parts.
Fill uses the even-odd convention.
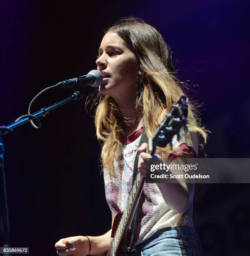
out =
[[[191,227],[170,227],[133,248],[133,256],[202,256],[200,240]]]

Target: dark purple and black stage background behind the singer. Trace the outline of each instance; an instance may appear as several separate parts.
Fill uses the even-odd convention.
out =
[[[211,131],[210,157],[249,157],[248,1],[1,1],[0,125],[27,113],[45,87],[95,69],[102,31],[135,15],[163,34],[182,81],[188,81]],[[198,85],[198,86],[196,86]],[[86,90],[86,95],[92,91]],[[70,95],[53,90],[33,111]],[[85,99],[4,137],[12,246],[56,255],[54,244],[110,228],[93,113]],[[195,216],[204,255],[249,255],[250,186],[207,186]]]

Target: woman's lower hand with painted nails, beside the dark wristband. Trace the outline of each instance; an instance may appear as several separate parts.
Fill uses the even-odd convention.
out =
[[[74,243],[73,246],[67,243]],[[55,243],[57,255],[67,256],[86,256],[90,251],[90,245],[87,237],[85,236],[72,236],[60,239]]]

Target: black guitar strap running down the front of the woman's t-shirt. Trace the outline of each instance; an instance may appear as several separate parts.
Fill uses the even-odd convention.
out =
[[[142,143],[144,142],[147,142],[148,143],[148,137],[146,135],[146,132],[145,132],[145,127],[143,126],[143,134],[140,138],[140,142],[139,142],[139,145],[138,145],[138,148],[141,146]],[[138,166],[138,158],[139,158],[139,155],[140,155],[140,152],[137,151],[137,154],[135,156],[135,164],[134,164],[134,170],[133,170],[133,179],[132,179],[132,186],[135,182],[135,177],[138,173],[138,169],[137,169],[137,166]],[[135,209],[135,215],[133,217],[133,220],[131,222],[131,225],[130,225],[130,243],[129,243],[129,247],[128,247],[128,253],[132,253],[132,245],[133,245],[133,241],[134,241],[134,237],[135,237],[135,227],[136,227],[136,222],[137,222],[137,214],[138,214],[138,206],[139,206],[139,203]]]

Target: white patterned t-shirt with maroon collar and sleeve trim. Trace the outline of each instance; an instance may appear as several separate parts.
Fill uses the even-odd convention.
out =
[[[130,134],[122,146],[117,148],[117,161],[114,161],[115,174],[104,169],[105,195],[115,216],[124,210],[132,187],[133,169],[143,128]],[[188,133],[181,140],[173,138],[173,146],[180,146],[191,154],[198,155],[195,133]],[[190,185],[190,184],[189,184]],[[190,203],[185,212],[177,213],[168,207],[157,184],[145,183],[138,208],[135,243],[137,245],[161,228],[170,226],[193,226],[193,195],[195,186],[189,187]]]

